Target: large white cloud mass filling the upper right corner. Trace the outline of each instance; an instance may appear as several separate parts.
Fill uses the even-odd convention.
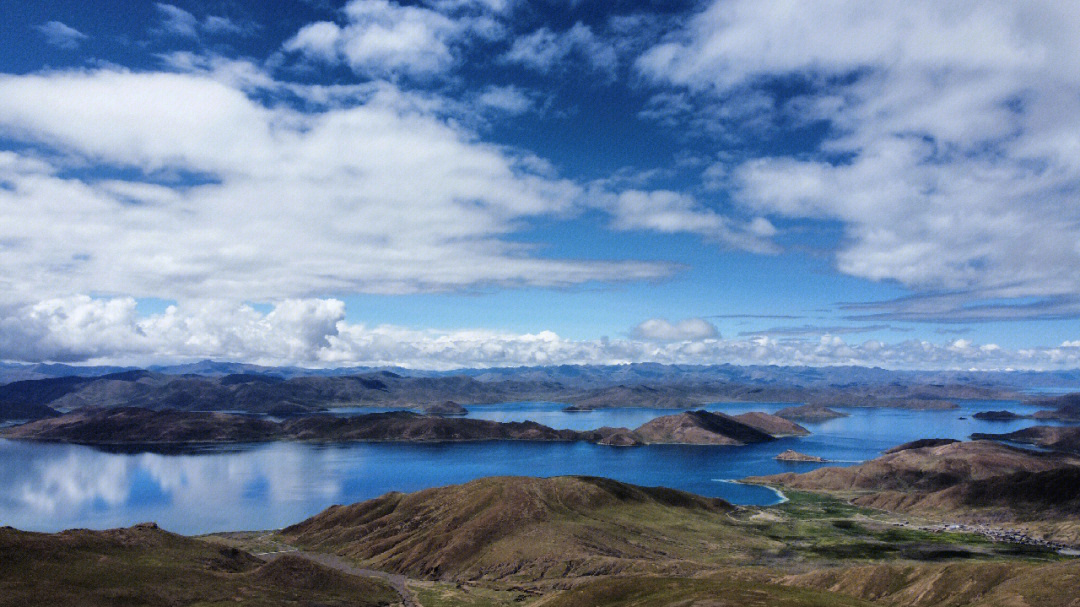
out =
[[[831,126],[818,154],[738,162],[730,177],[755,212],[841,221],[839,270],[1024,304],[1080,294],[1078,27],[1062,2],[734,0],[637,67]],[[806,92],[783,100],[780,81]]]

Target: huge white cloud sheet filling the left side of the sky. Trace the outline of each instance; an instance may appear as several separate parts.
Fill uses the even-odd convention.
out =
[[[235,64],[0,77],[0,132],[31,144],[0,152],[0,301],[261,301],[673,270],[537,257],[507,240],[529,218],[571,213],[583,188],[478,141],[426,97],[374,85],[310,113],[253,98],[278,85]],[[66,171],[87,165],[140,176]]]

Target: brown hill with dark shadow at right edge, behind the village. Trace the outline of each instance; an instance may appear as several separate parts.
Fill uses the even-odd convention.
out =
[[[1080,460],[989,441],[909,447],[850,468],[747,482],[825,491],[858,505],[970,523],[1010,523],[1080,544]]]

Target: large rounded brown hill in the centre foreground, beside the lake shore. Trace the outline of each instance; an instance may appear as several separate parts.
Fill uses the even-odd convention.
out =
[[[731,558],[719,499],[605,478],[488,477],[332,507],[282,531],[310,550],[429,579],[577,578]],[[712,548],[708,548],[712,547]]]

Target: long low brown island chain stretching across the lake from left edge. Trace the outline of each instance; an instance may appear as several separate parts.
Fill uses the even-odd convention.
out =
[[[661,416],[635,430],[556,430],[535,421],[491,421],[411,412],[355,416],[307,415],[274,420],[249,415],[141,407],[84,408],[0,429],[21,441],[132,445],[312,442],[585,441],[612,446],[645,444],[745,445],[809,432],[765,413],[728,416],[704,410]]]

